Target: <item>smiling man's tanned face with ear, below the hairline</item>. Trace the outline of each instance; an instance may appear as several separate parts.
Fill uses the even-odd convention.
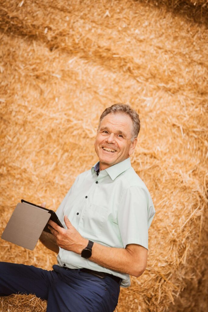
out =
[[[132,138],[132,120],[127,114],[108,114],[101,121],[95,139],[100,170],[120,163],[134,151],[137,139]]]

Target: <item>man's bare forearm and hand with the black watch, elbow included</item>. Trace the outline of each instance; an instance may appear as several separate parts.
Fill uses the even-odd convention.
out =
[[[81,251],[88,244],[88,239],[80,235],[67,216],[64,217],[64,221],[67,229],[49,220],[51,233],[56,237],[59,247],[81,255]],[[137,244],[128,244],[126,248],[114,248],[94,243],[89,260],[113,271],[138,277],[146,268],[147,252],[145,247]]]

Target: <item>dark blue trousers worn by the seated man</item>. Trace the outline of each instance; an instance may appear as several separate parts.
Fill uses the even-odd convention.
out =
[[[119,284],[109,276],[100,279],[57,265],[53,271],[47,271],[0,262],[0,296],[34,294],[48,300],[47,312],[113,312],[119,291]]]

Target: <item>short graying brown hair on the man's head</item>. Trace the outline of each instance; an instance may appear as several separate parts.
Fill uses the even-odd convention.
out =
[[[133,125],[132,129],[132,141],[133,141],[133,139],[137,138],[139,134],[140,119],[136,110],[133,110],[133,108],[131,108],[128,104],[118,103],[110,107],[107,107],[100,116],[98,129],[100,127],[101,121],[104,119],[105,116],[107,116],[108,114],[117,114],[117,113],[129,115],[129,117],[131,118]]]

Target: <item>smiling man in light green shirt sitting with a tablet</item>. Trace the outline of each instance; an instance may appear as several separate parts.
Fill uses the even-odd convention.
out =
[[[97,162],[81,173],[57,209],[65,228],[49,221],[41,241],[58,252],[53,271],[2,263],[0,294],[34,293],[47,311],[114,311],[120,285],[146,268],[148,227],[155,209],[131,167],[140,129],[130,106],[115,104],[100,117]]]

